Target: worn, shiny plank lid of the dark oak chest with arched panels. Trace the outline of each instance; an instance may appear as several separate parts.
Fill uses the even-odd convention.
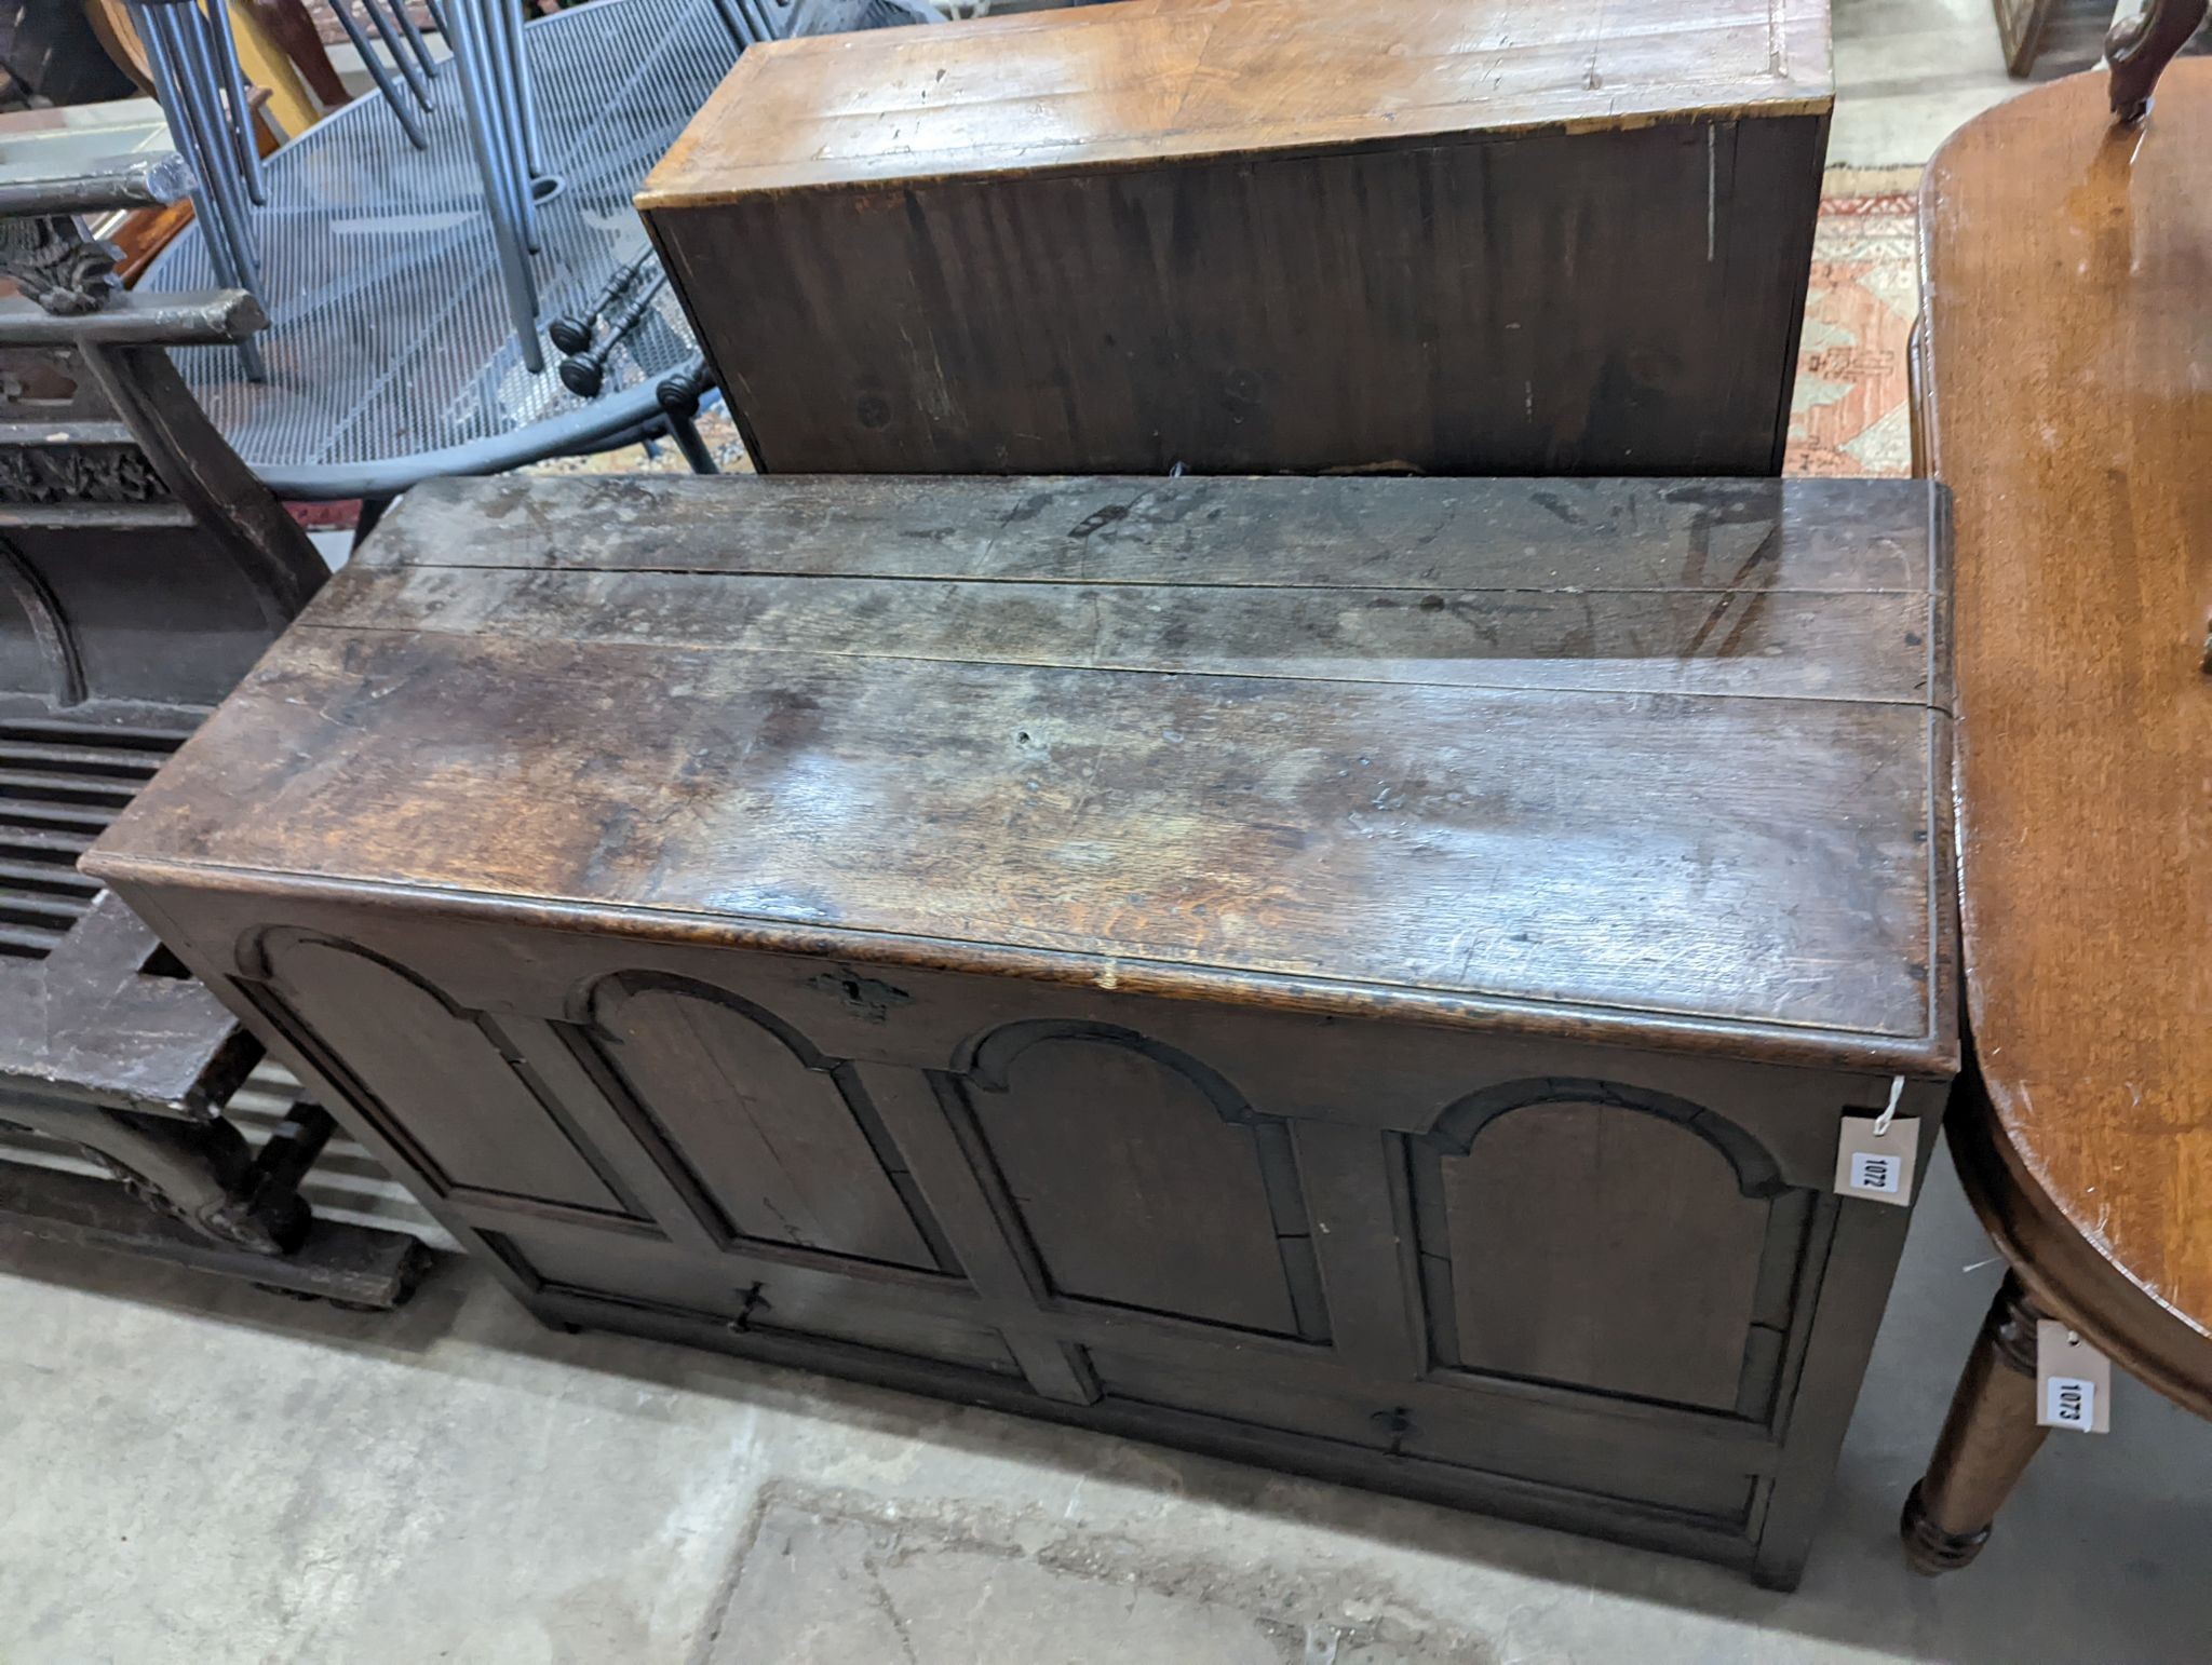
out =
[[[1907,480],[438,482],[86,869],[1949,1068],[1947,586]]]

